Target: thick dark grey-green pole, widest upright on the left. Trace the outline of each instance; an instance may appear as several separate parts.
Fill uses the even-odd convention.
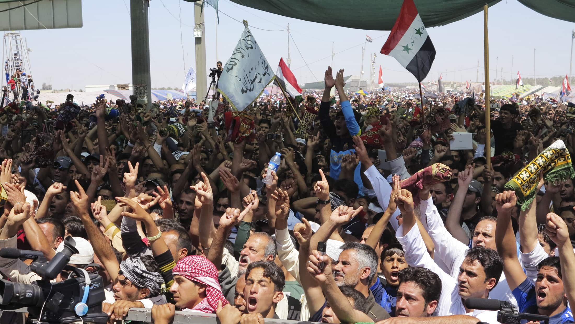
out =
[[[152,104],[150,76],[150,32],[148,31],[148,0],[130,0],[130,28],[132,35],[132,85],[139,104],[146,110]]]

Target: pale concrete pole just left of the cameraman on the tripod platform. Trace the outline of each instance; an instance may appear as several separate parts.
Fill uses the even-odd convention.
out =
[[[132,0],[138,1],[138,0]],[[204,1],[194,2],[194,39],[196,39],[196,101],[206,100],[208,93],[208,82],[206,81],[206,42],[205,42],[205,25],[204,16],[201,10]]]

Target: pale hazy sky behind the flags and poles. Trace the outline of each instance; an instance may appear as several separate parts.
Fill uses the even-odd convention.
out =
[[[47,82],[55,89],[83,89],[85,85],[131,83],[129,1],[82,1],[82,28],[22,32],[28,47],[33,49],[30,60],[36,84]],[[335,55],[333,68],[345,68],[346,75],[358,75],[366,34],[374,41],[366,45],[364,78],[369,78],[371,53],[377,53],[376,70],[381,64],[385,82],[416,82],[394,58],[379,54],[389,31],[364,31],[324,25],[262,12],[236,5],[229,0],[220,0],[219,3],[217,56],[216,12],[212,7],[204,9],[208,68],[215,67],[217,60],[224,63],[227,61],[243,31],[243,25],[225,16],[228,14],[236,20],[248,21],[268,62],[274,66],[274,71],[279,58],[287,58],[287,32],[277,30],[286,29],[289,22],[295,41],[294,44],[290,40],[292,70],[298,83],[323,79],[325,68],[331,63],[332,41],[336,53],[353,47]],[[193,3],[181,0],[150,2],[152,87],[181,87],[187,69],[190,65],[195,67],[193,25]],[[256,27],[275,32],[262,31]],[[490,7],[490,78],[495,78],[497,63],[497,78],[501,78],[501,68],[505,79],[515,78],[517,71],[522,77],[532,77],[534,48],[535,73],[538,77],[568,74],[570,34],[573,28],[575,24],[572,22],[543,16],[516,0],[504,0]],[[439,73],[443,73],[444,80],[475,80],[478,60],[479,78],[483,79],[482,13],[445,26],[428,28],[428,34],[437,54],[427,79],[436,79]],[[305,66],[296,44],[311,71]]]

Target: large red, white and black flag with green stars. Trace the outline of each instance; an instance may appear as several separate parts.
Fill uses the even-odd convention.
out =
[[[381,48],[381,54],[393,56],[419,82],[430,71],[435,59],[435,47],[413,0],[404,0],[388,40]]]

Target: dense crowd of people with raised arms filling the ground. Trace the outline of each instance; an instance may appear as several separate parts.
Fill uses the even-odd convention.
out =
[[[132,307],[158,324],[175,310],[223,324],[497,323],[472,298],[573,323],[575,105],[358,95],[331,67],[324,81],[241,112],[215,97],[213,114],[193,99],[9,104],[0,248],[51,260],[71,237],[69,264],[101,275],[110,323]],[[470,147],[450,149],[455,132]],[[28,264],[0,257],[0,272],[29,284]]]

